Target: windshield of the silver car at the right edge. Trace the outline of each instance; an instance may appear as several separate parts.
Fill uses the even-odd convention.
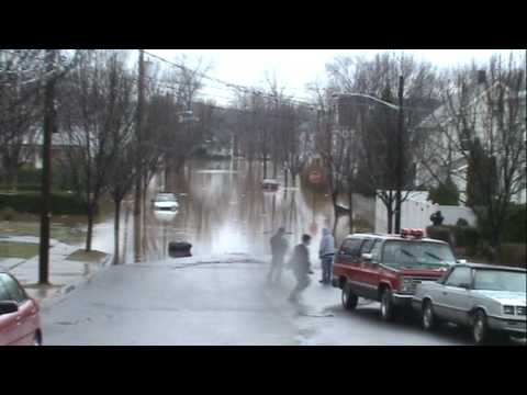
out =
[[[474,290],[526,292],[526,273],[508,270],[479,269]]]

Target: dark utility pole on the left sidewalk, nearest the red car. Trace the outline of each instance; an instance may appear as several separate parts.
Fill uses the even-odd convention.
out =
[[[52,133],[55,128],[55,78],[52,75],[55,49],[46,49],[46,82],[44,88],[44,138],[42,145],[41,242],[38,283],[49,284],[49,219],[52,216]]]

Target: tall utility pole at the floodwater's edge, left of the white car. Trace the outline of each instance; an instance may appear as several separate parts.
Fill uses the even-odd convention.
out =
[[[144,88],[145,88],[145,53],[139,49],[139,72],[137,81],[137,113],[136,113],[136,139],[137,139],[137,155],[141,156],[143,143],[143,103],[144,103]],[[135,195],[134,195],[134,250],[135,261],[141,260],[141,205],[142,205],[142,189],[143,189],[143,163],[137,158],[136,165],[139,166],[137,170],[137,178],[135,180]]]

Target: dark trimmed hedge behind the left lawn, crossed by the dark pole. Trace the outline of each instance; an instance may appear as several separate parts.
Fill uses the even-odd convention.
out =
[[[41,212],[40,192],[0,193],[0,210],[11,207],[19,213],[38,214]],[[52,213],[56,215],[86,214],[86,204],[75,194],[52,193]]]

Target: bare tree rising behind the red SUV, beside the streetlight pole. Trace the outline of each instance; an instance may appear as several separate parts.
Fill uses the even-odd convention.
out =
[[[354,98],[347,103],[352,110],[352,116],[346,126],[358,132],[361,142],[359,156],[360,180],[362,189],[372,190],[386,206],[388,230],[392,232],[395,214],[397,188],[395,180],[399,170],[397,156],[402,155],[402,173],[406,200],[414,183],[414,169],[418,153],[425,142],[424,135],[415,126],[431,112],[437,95],[435,70],[427,63],[416,61],[411,56],[400,56],[392,53],[377,55],[369,60],[363,57],[337,57],[326,66],[330,77],[330,86],[341,93],[362,93],[394,102],[399,76],[404,77],[404,120],[402,153],[396,153],[397,136],[396,112],[383,104],[378,104],[367,98]],[[339,114],[340,116],[340,114]]]

